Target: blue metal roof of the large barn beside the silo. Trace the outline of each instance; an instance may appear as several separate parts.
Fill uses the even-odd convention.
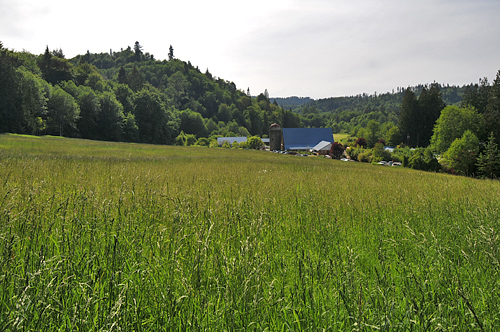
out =
[[[283,128],[285,150],[309,150],[321,141],[333,143],[332,128]]]

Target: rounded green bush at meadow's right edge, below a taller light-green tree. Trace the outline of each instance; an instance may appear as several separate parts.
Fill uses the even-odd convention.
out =
[[[443,155],[447,169],[459,175],[473,175],[479,152],[479,140],[470,130],[457,138]]]

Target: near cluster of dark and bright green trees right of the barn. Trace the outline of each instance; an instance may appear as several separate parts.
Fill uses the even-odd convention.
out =
[[[418,97],[407,88],[398,125],[387,128],[370,120],[346,144],[347,154],[358,161],[397,160],[419,170],[499,178],[500,71],[492,84],[484,78],[466,86],[458,105],[446,105],[437,83],[424,86]],[[387,144],[398,148],[391,154],[383,149]]]

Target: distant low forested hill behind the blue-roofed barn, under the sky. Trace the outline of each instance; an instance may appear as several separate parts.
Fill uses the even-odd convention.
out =
[[[435,84],[435,83],[433,83]],[[467,86],[437,84],[446,105],[459,105]],[[418,97],[429,85],[409,87]],[[271,98],[285,109],[300,115],[303,126],[331,127],[334,132],[346,132],[354,136],[366,128],[370,120],[392,127],[398,124],[403,96],[408,88],[397,88],[396,92],[366,93],[350,97],[333,97],[313,100],[307,97]]]

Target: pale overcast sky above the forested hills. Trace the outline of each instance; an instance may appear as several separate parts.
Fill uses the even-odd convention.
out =
[[[500,70],[499,0],[0,0],[15,51],[119,51],[138,41],[252,95],[314,99],[438,82],[490,82]]]

